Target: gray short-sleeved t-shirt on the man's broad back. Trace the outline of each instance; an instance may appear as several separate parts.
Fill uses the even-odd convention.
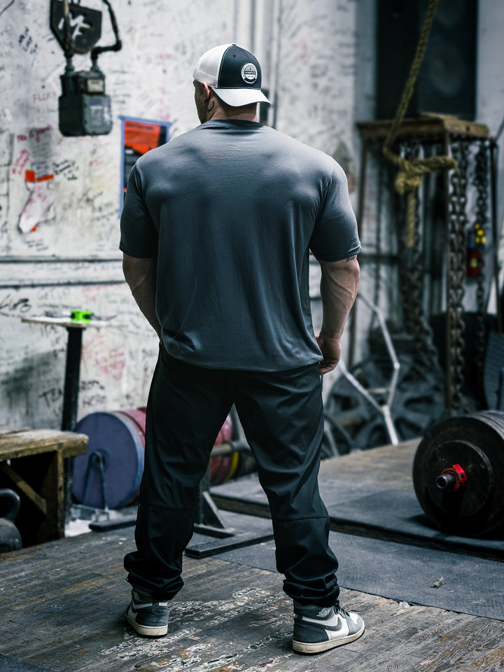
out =
[[[259,123],[218,119],[139,158],[120,249],[158,257],[156,312],[169,354],[280,371],[322,358],[309,250],[337,261],[360,244],[335,160]]]

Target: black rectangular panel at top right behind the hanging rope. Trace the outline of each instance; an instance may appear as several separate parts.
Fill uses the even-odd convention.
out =
[[[377,119],[395,116],[428,0],[378,0]],[[439,0],[406,116],[423,112],[473,120],[477,0]]]

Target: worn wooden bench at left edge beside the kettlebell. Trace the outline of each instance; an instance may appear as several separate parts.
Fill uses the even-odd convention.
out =
[[[64,537],[65,458],[85,453],[87,436],[52,429],[0,435],[0,488],[21,498],[15,525],[23,546]]]

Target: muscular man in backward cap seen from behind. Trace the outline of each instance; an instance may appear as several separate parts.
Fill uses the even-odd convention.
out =
[[[338,363],[356,297],[356,219],[332,158],[258,123],[267,99],[250,52],[215,47],[193,78],[201,125],[137,161],[121,217],[125,278],[160,337],[126,618],[141,635],[167,633],[198,484],[235,403],[293,598],[293,648],[320,652],[364,631],[339,606],[317,486],[320,375]],[[317,337],[310,250],[322,273]]]

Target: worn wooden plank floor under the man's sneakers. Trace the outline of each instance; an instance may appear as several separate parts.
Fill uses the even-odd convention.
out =
[[[0,556],[0,651],[52,672],[498,672],[504,623],[342,591],[360,640],[306,657],[290,648],[281,576],[218,558],[186,559],[169,633],[125,624],[123,556],[133,530],[88,533]],[[0,659],[1,660],[1,659]],[[1,669],[1,667],[0,667]]]

